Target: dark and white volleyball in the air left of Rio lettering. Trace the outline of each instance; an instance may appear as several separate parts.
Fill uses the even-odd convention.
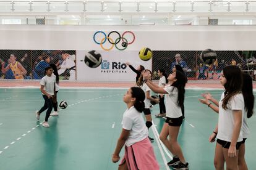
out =
[[[98,67],[102,62],[101,54],[95,50],[87,52],[85,55],[85,64],[90,68]]]

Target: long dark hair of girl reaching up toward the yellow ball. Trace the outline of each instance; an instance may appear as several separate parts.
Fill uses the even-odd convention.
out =
[[[182,73],[179,70],[176,70],[176,76],[175,78],[177,79],[176,81],[174,81],[173,84],[171,84],[171,86],[174,86],[177,88],[178,90],[178,99],[177,99],[177,105],[179,107],[181,107],[182,105],[184,105],[184,99],[185,99],[185,86],[187,83],[187,78],[184,75],[184,73]]]

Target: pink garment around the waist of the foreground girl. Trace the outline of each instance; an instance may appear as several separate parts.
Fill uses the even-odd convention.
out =
[[[150,140],[147,138],[125,147],[124,158],[119,165],[126,163],[129,170],[158,170],[160,166]]]

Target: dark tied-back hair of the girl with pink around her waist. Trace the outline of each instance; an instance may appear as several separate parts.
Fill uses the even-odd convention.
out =
[[[142,113],[142,111],[145,109],[145,92],[140,89],[140,87],[131,87],[130,89],[132,91],[132,97],[136,99],[134,107],[136,108],[136,110]]]

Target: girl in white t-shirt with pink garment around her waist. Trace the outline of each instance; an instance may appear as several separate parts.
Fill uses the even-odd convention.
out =
[[[119,153],[126,145],[119,169],[160,169],[142,116],[145,107],[144,99],[145,94],[139,87],[131,87],[124,94],[123,100],[127,105],[127,110],[124,112],[122,132],[112,155],[113,163],[117,163],[120,159]]]

